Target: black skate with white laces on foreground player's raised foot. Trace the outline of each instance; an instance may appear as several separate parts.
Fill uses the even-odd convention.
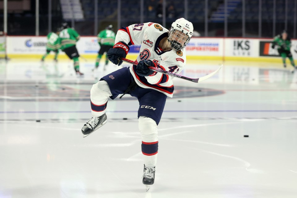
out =
[[[92,118],[84,124],[81,132],[84,134],[84,137],[90,135],[98,128],[102,127],[107,122],[106,114],[101,115],[100,117],[92,116]]]

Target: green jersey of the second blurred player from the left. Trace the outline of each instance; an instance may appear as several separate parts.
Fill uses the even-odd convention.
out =
[[[76,41],[80,39],[80,35],[72,28],[63,29],[60,32],[59,37],[62,50],[75,45]]]

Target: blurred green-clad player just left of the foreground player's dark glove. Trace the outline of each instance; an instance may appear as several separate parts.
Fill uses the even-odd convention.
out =
[[[97,37],[98,37],[98,44],[100,46],[100,50],[98,51],[98,56],[96,59],[96,65],[95,65],[96,68],[99,67],[99,62],[102,55],[105,52],[108,52],[108,50],[114,46],[115,33],[112,30],[112,25],[107,26],[105,30],[102,30],[101,32],[99,32]],[[107,64],[108,64],[108,58],[106,56],[103,70],[105,70],[105,67]]]

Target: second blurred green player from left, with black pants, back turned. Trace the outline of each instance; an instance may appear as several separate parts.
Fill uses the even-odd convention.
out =
[[[80,35],[73,28],[69,28],[67,23],[62,24],[62,31],[59,34],[61,40],[61,50],[65,52],[65,54],[73,59],[74,62],[74,70],[77,75],[84,75],[80,72],[80,63],[78,51],[76,49],[76,42],[80,39]]]

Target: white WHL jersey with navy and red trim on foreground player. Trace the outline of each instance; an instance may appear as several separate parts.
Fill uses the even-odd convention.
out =
[[[168,37],[168,30],[159,24],[133,24],[118,30],[115,43],[125,42],[128,45],[141,45],[137,62],[151,60],[157,63],[159,68],[178,74],[186,64],[185,49],[164,52],[159,47],[159,43],[164,37]],[[130,72],[140,87],[155,89],[169,97],[173,96],[173,77],[160,72],[153,76],[139,76],[136,74],[135,65],[130,66]]]

